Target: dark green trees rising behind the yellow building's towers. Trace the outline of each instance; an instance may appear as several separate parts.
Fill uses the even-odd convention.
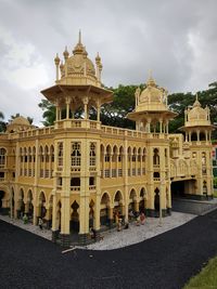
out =
[[[143,84],[139,86],[144,89]],[[127,119],[127,114],[135,109],[135,91],[137,86],[123,86],[118,88],[110,88],[114,92],[113,102],[101,107],[101,121],[103,124],[112,127],[120,127],[133,129],[135,122]],[[207,90],[197,93],[199,101],[202,107],[206,105],[210,108],[210,120],[217,122],[217,81],[208,86]],[[180,132],[178,129],[184,124],[184,109],[192,106],[195,101],[195,95],[188,93],[173,93],[168,95],[168,106],[171,110],[177,113],[177,117],[169,123],[169,132]],[[44,126],[52,126],[55,120],[55,107],[47,100],[42,100],[39,107],[43,110],[42,123]],[[63,114],[65,114],[63,111]],[[81,110],[76,113],[76,117],[81,116]],[[97,111],[90,110],[90,119],[97,119]],[[213,137],[217,139],[217,131],[214,132]]]

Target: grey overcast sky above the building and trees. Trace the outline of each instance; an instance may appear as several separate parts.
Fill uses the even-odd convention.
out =
[[[169,93],[204,90],[217,80],[216,11],[216,0],[0,0],[0,111],[40,123],[40,90],[79,29],[105,86],[144,83],[152,70]]]

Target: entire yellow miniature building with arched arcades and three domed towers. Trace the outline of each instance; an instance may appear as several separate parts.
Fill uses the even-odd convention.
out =
[[[56,55],[55,86],[41,93],[55,105],[53,127],[36,129],[15,119],[0,134],[0,210],[11,218],[42,218],[53,241],[71,242],[77,232],[85,244],[90,227],[112,226],[114,213],[170,214],[171,194],[213,196],[212,124],[208,108],[196,100],[186,110],[186,133],[169,134],[176,114],[167,91],[148,79],[136,91],[136,109],[128,118],[136,130],[102,126],[100,108],[113,93],[102,87],[102,64],[88,58],[81,37],[64,62]],[[90,109],[97,119],[90,120]],[[79,111],[79,114],[78,114]]]

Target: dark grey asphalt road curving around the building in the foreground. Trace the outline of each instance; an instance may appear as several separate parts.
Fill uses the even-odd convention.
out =
[[[61,248],[0,221],[0,288],[182,288],[217,253],[217,210],[110,251]]]

